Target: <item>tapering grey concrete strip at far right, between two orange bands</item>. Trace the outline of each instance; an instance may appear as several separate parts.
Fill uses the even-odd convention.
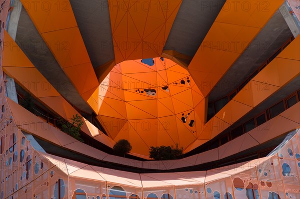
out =
[[[237,88],[292,36],[280,11],[276,11],[249,47],[229,68],[209,94],[209,102],[224,97]]]

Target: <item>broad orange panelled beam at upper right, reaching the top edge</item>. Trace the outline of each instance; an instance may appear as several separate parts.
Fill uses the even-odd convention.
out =
[[[282,3],[283,0],[225,2],[188,65],[203,96],[209,94]]]

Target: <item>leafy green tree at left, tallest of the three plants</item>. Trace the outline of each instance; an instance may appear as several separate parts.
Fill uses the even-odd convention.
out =
[[[83,125],[82,117],[78,114],[73,115],[71,122],[63,121],[60,119],[59,124],[61,125],[61,131],[72,136],[76,140],[83,142],[80,137],[81,126]]]

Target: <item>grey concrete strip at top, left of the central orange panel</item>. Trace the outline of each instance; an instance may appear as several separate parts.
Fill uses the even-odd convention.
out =
[[[107,0],[70,0],[94,68],[114,59]]]

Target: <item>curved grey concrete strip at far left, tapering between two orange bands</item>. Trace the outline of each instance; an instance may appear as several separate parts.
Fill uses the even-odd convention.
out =
[[[80,110],[92,113],[90,107],[60,68],[23,7],[17,24],[15,42],[37,70],[64,98]]]

